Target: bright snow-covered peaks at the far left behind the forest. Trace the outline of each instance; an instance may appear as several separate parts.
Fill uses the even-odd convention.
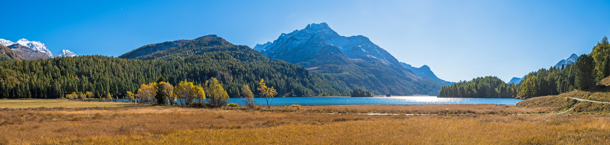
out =
[[[2,46],[6,46],[14,51],[15,54],[20,55],[27,60],[77,56],[74,54],[74,52],[68,50],[62,50],[56,54],[52,54],[52,52],[46,47],[45,43],[41,43],[40,41],[20,39],[16,43],[13,43],[13,41],[0,38],[0,44]]]

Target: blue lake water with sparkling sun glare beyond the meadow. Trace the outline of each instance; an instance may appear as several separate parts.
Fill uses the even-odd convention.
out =
[[[118,99],[127,101],[127,99]],[[254,98],[258,104],[266,104],[264,99]],[[498,98],[443,98],[436,96],[406,97],[275,97],[272,105],[403,105],[403,104],[501,104],[515,105],[521,99]],[[244,105],[242,98],[229,98],[228,103]]]

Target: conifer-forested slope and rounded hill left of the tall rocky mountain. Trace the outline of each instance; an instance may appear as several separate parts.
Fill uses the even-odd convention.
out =
[[[158,44],[162,43],[142,48]],[[257,94],[255,88],[260,79],[275,87],[280,96],[346,96],[350,91],[336,77],[269,59],[248,46],[233,45],[215,35],[178,46],[147,55],[131,55],[140,59],[84,55],[0,62],[0,96],[57,98],[84,91],[91,91],[96,97],[107,93],[124,96],[126,91],[135,92],[142,83],[154,82],[159,76],[172,84],[184,79],[198,84],[217,77],[230,97],[239,96],[239,89],[245,84]],[[142,49],[131,53],[138,50]]]

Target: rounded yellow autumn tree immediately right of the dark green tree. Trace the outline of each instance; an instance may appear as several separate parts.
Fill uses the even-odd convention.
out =
[[[180,81],[178,86],[174,88],[174,94],[178,99],[181,99],[180,104],[189,105],[193,101],[202,102],[206,99],[206,93],[201,85],[193,85],[193,82],[187,80]]]

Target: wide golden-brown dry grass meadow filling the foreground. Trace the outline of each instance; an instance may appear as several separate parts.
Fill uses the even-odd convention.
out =
[[[339,105],[259,110],[169,106],[4,108],[0,109],[0,144],[610,144],[607,114],[509,115],[545,109],[550,108],[515,105]]]

